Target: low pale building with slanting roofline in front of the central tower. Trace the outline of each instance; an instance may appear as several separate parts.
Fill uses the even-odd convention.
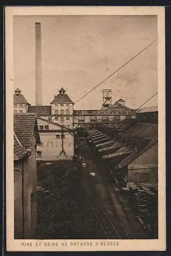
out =
[[[72,160],[74,157],[73,129],[46,118],[37,117],[41,145],[37,147],[37,160]]]

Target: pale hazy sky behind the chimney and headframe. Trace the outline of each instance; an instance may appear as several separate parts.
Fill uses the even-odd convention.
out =
[[[100,83],[157,39],[156,16],[14,16],[13,81],[35,105],[35,22],[41,23],[42,99],[49,105],[63,87],[73,100]],[[101,109],[112,89],[136,109],[157,92],[157,42],[74,105]],[[157,95],[144,106],[157,105]]]

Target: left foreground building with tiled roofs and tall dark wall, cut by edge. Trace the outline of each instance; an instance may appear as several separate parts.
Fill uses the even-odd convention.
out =
[[[40,145],[35,114],[14,114],[14,239],[33,239],[36,228],[36,147]]]

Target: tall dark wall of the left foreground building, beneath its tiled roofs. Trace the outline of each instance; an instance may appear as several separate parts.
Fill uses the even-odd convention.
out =
[[[20,172],[17,172],[19,169]],[[23,178],[22,178],[23,176]],[[23,189],[22,189],[23,187]],[[33,137],[31,155],[14,161],[14,237],[31,239],[37,224],[36,148]],[[23,227],[24,212],[24,227]],[[24,236],[24,237],[23,237]]]

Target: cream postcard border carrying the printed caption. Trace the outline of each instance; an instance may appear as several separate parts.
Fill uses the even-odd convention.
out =
[[[157,15],[159,113],[159,239],[153,240],[14,240],[13,178],[13,16],[14,15]],[[164,7],[6,7],[6,215],[8,251],[159,251],[166,249],[165,202],[165,10]],[[22,246],[22,242],[30,246]],[[93,243],[79,246],[71,243]],[[99,242],[115,242],[108,246]],[[32,243],[32,245],[31,245]],[[39,244],[41,243],[41,245]],[[45,243],[58,243],[48,246]],[[65,244],[67,243],[67,245]],[[98,245],[97,245],[98,243]]]

